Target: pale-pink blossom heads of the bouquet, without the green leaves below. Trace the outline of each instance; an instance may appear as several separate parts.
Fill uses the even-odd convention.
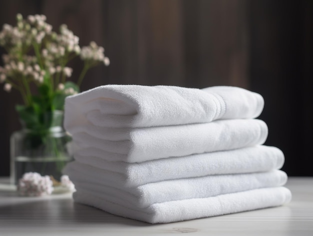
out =
[[[88,47],[80,48],[79,38],[66,25],[61,25],[57,34],[52,32],[52,26],[45,22],[44,15],[23,19],[18,14],[16,19],[15,26],[4,24],[0,31],[0,46],[7,49],[7,55],[2,56],[4,66],[0,67],[0,82],[4,83],[3,88],[6,91],[16,88],[23,93],[22,90],[26,86],[20,83],[20,79],[29,86],[33,82],[38,86],[38,83],[48,79],[53,82],[66,81],[65,77],[72,76],[72,69],[66,67],[67,63],[76,55],[88,61],[85,64],[87,69],[101,63],[109,65],[109,59],[104,57],[102,47],[90,42]],[[40,56],[37,55],[37,49],[41,51]],[[78,86],[84,72],[79,76]],[[53,82],[51,89],[55,89]],[[63,84],[60,86],[63,86],[62,93],[76,93],[73,88],[65,89]]]

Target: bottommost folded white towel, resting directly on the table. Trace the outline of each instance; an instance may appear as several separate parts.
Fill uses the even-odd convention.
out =
[[[290,201],[291,192],[285,187],[259,188],[213,197],[155,203],[146,208],[113,203],[83,190],[74,192],[73,198],[76,202],[127,218],[148,223],[169,223],[279,206]]]

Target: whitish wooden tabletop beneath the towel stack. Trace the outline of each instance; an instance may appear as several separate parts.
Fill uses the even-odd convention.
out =
[[[3,179],[0,179],[0,181]],[[290,177],[290,203],[167,224],[148,224],[74,203],[70,194],[19,197],[0,184],[0,235],[313,235],[313,178]]]

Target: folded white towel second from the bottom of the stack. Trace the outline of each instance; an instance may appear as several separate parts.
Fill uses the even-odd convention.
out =
[[[88,179],[72,174],[69,176],[76,190],[87,191],[116,204],[147,207],[154,203],[217,196],[256,188],[278,187],[287,181],[281,170],[249,174],[208,175],[147,183],[137,187],[109,186],[98,179]]]

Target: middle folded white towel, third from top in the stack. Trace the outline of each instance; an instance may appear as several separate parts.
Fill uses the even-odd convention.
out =
[[[91,178],[99,179],[103,184],[112,179],[120,179],[125,186],[138,186],[167,179],[269,171],[280,169],[284,163],[284,155],[278,148],[263,145],[140,163],[105,161],[99,156],[83,156],[77,153],[74,156],[76,161],[87,166],[73,162],[67,168],[72,169],[69,170],[70,173],[81,172],[84,176],[90,175]],[[89,165],[97,168],[89,168]],[[114,173],[120,177],[115,178]],[[107,180],[100,176],[107,177]]]

